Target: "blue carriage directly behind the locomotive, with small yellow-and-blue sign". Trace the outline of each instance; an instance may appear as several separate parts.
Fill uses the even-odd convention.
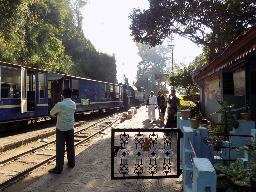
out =
[[[63,100],[63,89],[73,89],[76,114],[123,108],[123,86],[58,73],[48,74],[49,110]]]

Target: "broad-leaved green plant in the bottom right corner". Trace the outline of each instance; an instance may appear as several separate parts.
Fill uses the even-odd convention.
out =
[[[217,176],[217,186],[224,189],[224,191],[255,191],[256,182],[256,160],[249,160],[247,166],[244,168],[243,159],[239,158],[235,163],[229,167],[222,164],[214,164],[214,167],[223,174]],[[222,185],[226,182],[226,185]],[[221,184],[220,184],[221,183]],[[254,189],[254,190],[253,190]]]

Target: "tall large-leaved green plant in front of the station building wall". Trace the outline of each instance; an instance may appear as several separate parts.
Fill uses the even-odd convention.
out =
[[[224,118],[220,121],[220,123],[230,124],[232,127],[237,129],[239,126],[239,122],[234,120],[234,115],[231,113],[231,111],[236,111],[236,109],[234,109],[236,104],[232,104],[232,105],[228,106],[228,102],[226,102],[226,101],[220,101],[220,100],[216,100],[216,101],[221,105],[221,109],[215,113],[210,114],[210,115],[213,115],[216,113],[222,114],[224,116]],[[231,130],[232,130],[232,128],[229,125],[224,125],[223,133],[229,133]]]

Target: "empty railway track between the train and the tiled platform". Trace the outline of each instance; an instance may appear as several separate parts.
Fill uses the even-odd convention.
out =
[[[122,113],[119,112],[88,127],[75,131],[75,147],[89,141],[93,137],[102,137],[100,134],[118,122],[121,117]],[[33,173],[39,167],[54,161],[56,158],[55,143],[56,140],[53,140],[1,161],[0,175],[8,175],[9,178],[5,178],[4,180],[2,177],[0,178],[0,190],[10,186],[19,178]],[[12,166],[17,167],[16,170],[12,170]]]

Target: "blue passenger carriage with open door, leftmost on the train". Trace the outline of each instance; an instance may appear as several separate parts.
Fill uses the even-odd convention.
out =
[[[26,120],[49,116],[47,74],[44,70],[0,62],[1,131],[7,126],[6,123],[14,120],[15,123],[9,124],[8,129],[27,124]]]

